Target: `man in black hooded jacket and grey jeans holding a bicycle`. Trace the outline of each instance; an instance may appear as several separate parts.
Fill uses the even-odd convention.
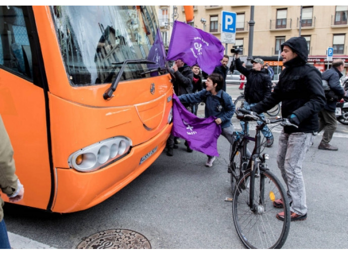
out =
[[[307,63],[306,39],[292,37],[281,44],[281,51],[285,69],[278,84],[269,97],[251,110],[261,113],[281,102],[282,117],[298,126],[284,126],[278,141],[277,164],[291,203],[291,221],[305,220],[308,208],[302,162],[319,129],[318,113],[325,105],[325,95],[320,72]],[[283,200],[275,200],[273,205],[282,207]],[[277,218],[284,220],[283,212]]]

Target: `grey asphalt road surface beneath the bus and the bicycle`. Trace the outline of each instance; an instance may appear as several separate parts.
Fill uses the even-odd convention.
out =
[[[227,86],[234,99],[239,94],[236,86]],[[291,223],[283,248],[348,248],[348,126],[338,124],[331,141],[339,147],[337,152],[318,150],[320,135],[308,151],[303,164],[308,218]],[[237,121],[234,125],[240,129]],[[270,154],[268,167],[279,179],[276,150],[280,130],[279,126],[272,130],[274,145],[264,151]],[[11,237],[42,244],[23,246],[13,237],[12,246],[72,249],[97,232],[129,229],[145,236],[153,249],[244,248],[233,224],[231,203],[224,202],[230,197],[228,142],[219,138],[220,157],[211,168],[204,166],[204,154],[186,152],[183,143],[173,157],[163,153],[119,193],[88,210],[61,215],[6,204]]]

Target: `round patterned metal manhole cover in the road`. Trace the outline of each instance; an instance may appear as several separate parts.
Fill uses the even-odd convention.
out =
[[[150,249],[145,236],[128,229],[108,229],[84,237],[78,249]]]

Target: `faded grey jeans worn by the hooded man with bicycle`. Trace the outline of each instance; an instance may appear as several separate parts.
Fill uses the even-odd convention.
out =
[[[312,133],[281,132],[278,142],[277,164],[287,187],[291,211],[300,215],[307,213],[306,189],[302,175],[302,162],[312,141]]]

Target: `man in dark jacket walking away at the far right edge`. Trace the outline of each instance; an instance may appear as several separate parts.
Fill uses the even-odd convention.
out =
[[[331,91],[336,96],[334,98],[326,98],[325,107],[319,112],[319,131],[324,130],[323,138],[318,146],[318,149],[337,151],[338,148],[329,144],[332,139],[333,133],[337,128],[336,119],[336,102],[338,98],[341,98],[345,92],[340,85],[339,79],[343,76],[341,73],[344,70],[344,61],[342,59],[335,59],[332,62],[332,67],[323,72],[321,78],[326,80]]]

